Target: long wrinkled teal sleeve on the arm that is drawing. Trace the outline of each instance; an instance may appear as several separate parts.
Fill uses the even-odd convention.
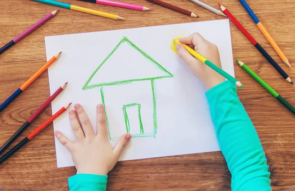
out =
[[[206,96],[221,152],[232,173],[232,190],[271,191],[265,153],[237,97],[236,85],[222,82]]]

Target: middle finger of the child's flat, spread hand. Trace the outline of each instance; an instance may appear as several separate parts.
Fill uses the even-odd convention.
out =
[[[80,104],[76,104],[74,108],[76,109],[76,112],[78,114],[85,137],[94,137],[95,135],[94,135],[92,125],[83,107]]]

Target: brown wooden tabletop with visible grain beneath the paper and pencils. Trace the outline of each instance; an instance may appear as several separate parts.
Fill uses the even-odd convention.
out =
[[[0,55],[0,102],[3,102],[46,62],[44,36],[224,19],[188,0],[165,1],[193,11],[200,16],[199,19],[187,17],[146,0],[128,0],[128,2],[143,4],[152,8],[151,12],[90,4],[78,0],[63,1],[117,13],[127,20],[114,21],[62,8],[55,18]],[[218,7],[217,0],[205,1]],[[223,0],[222,3],[295,81],[294,68],[289,69],[280,60],[238,0]],[[248,0],[248,3],[295,67],[293,16],[295,1]],[[9,42],[55,9],[57,8],[54,6],[30,0],[1,0],[0,45]],[[234,57],[247,63],[284,98],[295,105],[293,94],[295,86],[284,82],[232,23],[231,32]],[[237,64],[235,72],[237,79],[245,86],[238,90],[238,95],[265,149],[273,191],[295,191],[294,115],[282,107]],[[0,113],[0,145],[48,97],[48,74],[45,72]],[[23,139],[51,114],[49,107],[16,142]],[[75,172],[75,167],[57,168],[53,126],[50,125],[32,142],[0,165],[0,191],[66,191],[67,178]],[[230,185],[231,174],[221,152],[119,162],[109,173],[108,179],[110,191],[228,191]]]

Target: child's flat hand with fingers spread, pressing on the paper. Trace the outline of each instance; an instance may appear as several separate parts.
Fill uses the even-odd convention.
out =
[[[131,139],[131,135],[121,136],[113,148],[107,133],[103,106],[98,105],[96,107],[97,135],[94,134],[92,125],[82,106],[76,104],[74,108],[76,111],[70,110],[69,117],[76,142],[70,141],[59,131],[55,132],[55,136],[70,151],[77,168],[77,174],[107,175],[118,162],[123,148]]]

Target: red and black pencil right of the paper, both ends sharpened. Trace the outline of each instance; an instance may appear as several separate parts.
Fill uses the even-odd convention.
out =
[[[280,75],[288,82],[292,83],[291,78],[286,72],[272,59],[268,53],[260,46],[260,44],[251,36],[251,34],[236,20],[236,18],[230,13],[230,11],[218,3],[221,10],[226,16],[236,25],[236,27],[248,38],[248,40],[255,46],[255,48],[267,59],[267,61],[280,73]]]

